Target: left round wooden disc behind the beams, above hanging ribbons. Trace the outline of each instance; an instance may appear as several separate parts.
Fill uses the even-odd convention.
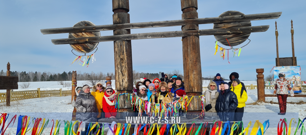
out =
[[[95,26],[95,24],[91,23],[90,21],[80,21],[80,22],[73,25],[73,27],[80,27],[80,26]],[[97,36],[100,36],[100,31],[69,33],[68,38],[97,37]],[[93,51],[97,47],[98,44],[99,44],[99,42],[82,43],[82,44],[70,44],[70,46],[76,52],[88,53],[88,52]]]

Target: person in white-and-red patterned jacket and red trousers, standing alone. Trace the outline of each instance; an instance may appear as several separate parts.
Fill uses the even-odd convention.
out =
[[[288,90],[290,91],[291,97],[293,97],[294,94],[290,82],[287,79],[285,79],[285,73],[278,74],[278,77],[279,79],[277,79],[276,84],[274,84],[273,94],[277,96],[278,99],[279,111],[280,111],[278,115],[285,115],[287,107]]]

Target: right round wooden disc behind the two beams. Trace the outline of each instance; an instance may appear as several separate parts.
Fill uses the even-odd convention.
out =
[[[244,15],[242,12],[239,11],[226,11],[222,13],[219,17],[223,16],[237,16],[237,15]],[[227,22],[227,23],[214,23],[214,29],[219,28],[231,28],[231,27],[248,27],[252,26],[251,21],[241,21],[241,22]],[[248,39],[251,33],[238,33],[238,34],[218,34],[214,35],[216,40],[226,46],[236,46]],[[229,41],[229,43],[226,41]]]

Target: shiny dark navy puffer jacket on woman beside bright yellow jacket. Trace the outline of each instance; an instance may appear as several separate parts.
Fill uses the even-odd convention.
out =
[[[226,82],[224,83],[229,85]],[[219,94],[215,108],[221,121],[234,121],[235,110],[238,106],[237,96],[233,91],[230,91],[230,89],[224,91],[225,94]]]

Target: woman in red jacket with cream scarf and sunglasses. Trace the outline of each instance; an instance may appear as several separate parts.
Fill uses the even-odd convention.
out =
[[[115,91],[110,84],[107,84],[105,94],[102,100],[102,108],[105,112],[105,118],[116,118],[116,108],[114,102]]]

